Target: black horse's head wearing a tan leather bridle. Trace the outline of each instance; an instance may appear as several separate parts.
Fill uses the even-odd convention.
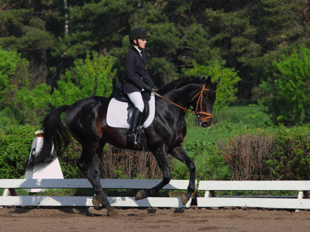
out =
[[[211,77],[209,76],[202,89],[191,99],[191,104],[198,117],[198,125],[201,127],[208,127],[211,125],[212,109],[216,97],[216,85],[219,81],[220,78],[212,83]]]

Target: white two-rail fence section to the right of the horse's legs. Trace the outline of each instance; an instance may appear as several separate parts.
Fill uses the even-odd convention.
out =
[[[198,207],[260,207],[310,209],[310,181],[199,181],[198,190],[205,197],[197,198]],[[295,199],[288,197],[216,197],[215,191],[298,191]],[[210,197],[210,195],[212,197]]]

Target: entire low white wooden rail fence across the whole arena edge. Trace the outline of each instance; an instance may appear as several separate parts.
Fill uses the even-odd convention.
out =
[[[101,179],[105,189],[150,189],[161,180],[148,179]],[[163,189],[187,190],[188,180],[171,180]],[[197,181],[196,181],[197,185]],[[75,189],[92,188],[87,179],[0,179],[0,189]],[[197,198],[198,207],[260,207],[282,209],[310,209],[310,181],[208,181],[199,182],[204,197]],[[217,197],[215,191],[298,191],[298,197]],[[210,197],[210,195],[212,197]],[[93,206],[93,196],[4,196],[0,206]],[[122,207],[189,207],[180,198],[149,197],[135,201],[134,197],[108,197],[112,206]]]

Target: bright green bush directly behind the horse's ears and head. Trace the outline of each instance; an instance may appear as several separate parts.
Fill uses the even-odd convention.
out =
[[[215,109],[222,109],[237,100],[235,96],[237,88],[235,86],[240,81],[240,77],[237,76],[234,69],[224,68],[223,64],[215,61],[210,66],[195,64],[194,68],[184,69],[183,71],[186,76],[211,76],[212,81],[221,78],[216,91]]]

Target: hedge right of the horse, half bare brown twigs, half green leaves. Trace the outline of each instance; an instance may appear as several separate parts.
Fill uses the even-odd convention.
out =
[[[310,177],[309,126],[272,133],[244,134],[220,142],[236,180],[307,180]]]

